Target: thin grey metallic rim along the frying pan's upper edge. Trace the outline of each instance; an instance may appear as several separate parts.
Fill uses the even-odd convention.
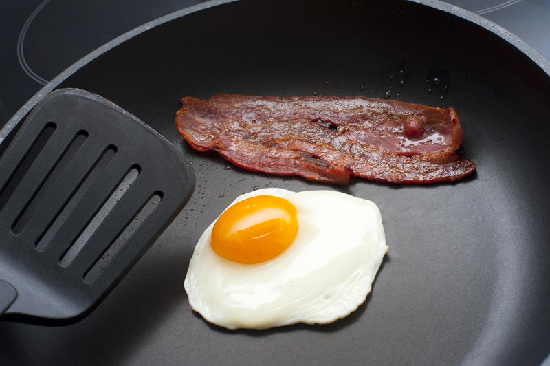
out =
[[[58,76],[50,80],[50,83],[47,83],[46,85],[44,85],[44,87],[42,87],[38,92],[36,92],[36,94],[34,94],[34,96],[32,96],[27,101],[27,103],[25,103],[21,108],[19,108],[19,110],[12,116],[12,118],[10,118],[8,122],[6,122],[5,125],[0,129],[0,144],[5,139],[5,137],[10,134],[12,129],[14,129],[14,127],[16,127],[17,124],[21,120],[23,120],[23,117],[26,114],[28,114],[28,112],[36,105],[36,103],[39,103],[39,101],[46,96],[46,94],[52,92],[53,89],[55,89],[58,85],[63,83],[63,81],[69,78],[69,76],[72,76],[72,74],[77,72],[78,69],[84,67],[91,61],[94,61],[96,58],[98,58],[102,54],[108,52],[109,50],[112,50],[113,48],[128,41],[129,39],[132,39],[133,37],[139,34],[142,34],[143,32],[146,32],[147,30],[151,30],[152,28],[157,27],[158,25],[168,23],[169,21],[172,21],[174,19],[184,17],[185,15],[192,14],[194,12],[198,12],[199,10],[205,10],[208,8],[213,8],[214,6],[219,6],[226,3],[233,3],[236,1],[239,1],[239,0],[210,0],[204,3],[197,4],[195,6],[183,8],[175,12],[172,12],[170,14],[166,14],[163,17],[159,17],[157,19],[144,23],[136,28],[133,28],[133,30],[129,30],[124,34],[121,34],[115,39],[112,39],[111,41],[104,43],[104,45],[101,45],[100,47],[96,48],[96,50],[90,52],[83,58],[80,58],[78,61],[76,61],[69,67],[67,67],[67,69],[63,70],[61,74],[58,74]],[[506,30],[505,28],[501,27],[496,23],[493,23],[492,21],[489,21],[489,19],[486,19],[481,15],[475,14],[474,12],[470,12],[469,10],[459,8],[458,6],[454,6],[449,3],[444,3],[443,1],[439,1],[439,0],[405,0],[405,1],[409,1],[410,3],[418,3],[423,6],[428,6],[430,8],[441,10],[443,12],[447,12],[448,14],[452,14],[456,17],[460,17],[466,21],[470,21],[471,23],[481,26],[485,30],[492,32],[493,34],[496,34],[501,39],[509,43],[510,45],[516,47],[516,49],[520,50],[523,54],[529,57],[531,61],[533,61],[536,65],[538,65],[538,67],[540,67],[540,69],[542,69],[542,71],[544,71],[550,77],[550,61],[547,58],[542,56],[542,54],[540,54],[540,52],[535,50],[531,45],[522,41],[522,39],[516,36],[516,34],[509,32],[509,30]]]

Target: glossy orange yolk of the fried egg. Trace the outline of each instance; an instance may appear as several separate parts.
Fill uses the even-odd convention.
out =
[[[284,252],[296,237],[296,207],[270,195],[250,197],[228,208],[212,228],[210,246],[238,263],[261,263]]]

